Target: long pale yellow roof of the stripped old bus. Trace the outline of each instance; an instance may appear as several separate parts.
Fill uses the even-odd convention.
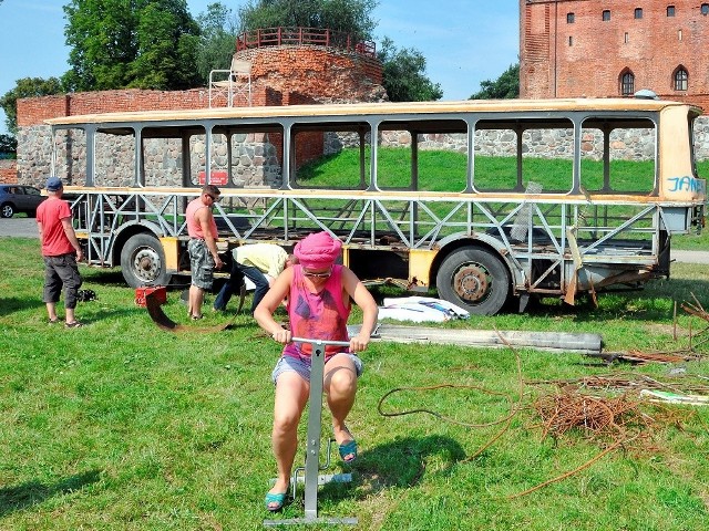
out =
[[[141,111],[63,116],[45,119],[49,125],[107,124],[126,122],[197,121],[224,118],[268,118],[301,116],[398,115],[438,113],[510,113],[635,111],[659,112],[666,107],[687,106],[693,113],[701,108],[681,102],[644,98],[557,98],[557,100],[465,100],[450,102],[348,103],[322,105],[286,105],[256,107],[218,107],[174,111]]]

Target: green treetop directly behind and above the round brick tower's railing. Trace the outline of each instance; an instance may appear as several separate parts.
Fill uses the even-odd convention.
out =
[[[259,28],[322,28],[371,40],[377,0],[249,0],[239,8],[239,32]]]

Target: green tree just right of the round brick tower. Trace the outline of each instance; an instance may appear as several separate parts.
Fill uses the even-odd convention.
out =
[[[413,48],[398,50],[386,37],[377,52],[383,69],[383,86],[392,102],[440,100],[443,91],[425,75],[425,58]]]

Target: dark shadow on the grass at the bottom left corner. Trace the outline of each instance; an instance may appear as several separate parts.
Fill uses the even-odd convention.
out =
[[[0,517],[14,511],[21,511],[28,507],[42,503],[48,498],[80,490],[86,485],[95,483],[101,479],[100,470],[90,470],[78,473],[54,485],[43,485],[39,481],[30,481],[18,487],[4,487],[0,489]]]

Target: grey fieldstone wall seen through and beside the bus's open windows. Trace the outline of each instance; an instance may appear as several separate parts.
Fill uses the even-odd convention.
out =
[[[309,134],[309,142],[302,138],[296,144],[296,166],[306,160],[317,158],[321,154],[337,153],[345,147],[357,147],[357,134],[321,133]],[[58,152],[56,174],[66,179],[68,184],[82,185],[85,168],[85,140],[83,133],[71,131],[71,142],[68,138],[59,140],[62,147]],[[100,135],[96,147],[96,185],[131,186],[126,179],[133,176],[133,150],[131,138]],[[572,136],[566,129],[548,132],[535,131],[525,134],[523,138],[527,156],[533,157],[571,157]],[[51,142],[47,126],[21,127],[18,134],[20,145],[33,146],[32,153],[18,153],[18,164],[22,167],[22,184],[42,185],[49,175],[51,157]],[[612,135],[612,157],[614,159],[647,159],[653,156],[654,137],[649,129],[624,129],[620,134]],[[695,125],[696,155],[698,160],[709,159],[709,117],[701,116]],[[366,136],[366,142],[368,137]],[[381,145],[403,147],[411,143],[405,132],[386,132],[381,136]],[[553,146],[552,148],[549,146]],[[586,132],[583,138],[584,157],[599,159],[602,157],[603,137],[599,132]],[[281,175],[280,159],[282,138],[279,134],[251,133],[237,134],[232,137],[233,186],[278,186]],[[420,135],[420,149],[449,149],[458,153],[467,152],[466,135],[435,134]],[[508,131],[483,131],[475,134],[475,154],[487,156],[515,156],[516,138]],[[549,152],[553,149],[553,153]],[[176,185],[183,183],[181,145],[176,140],[145,140],[145,184]],[[199,171],[204,170],[206,157],[203,137],[193,138],[191,175],[185,183],[198,184]],[[227,169],[227,139],[215,136],[213,146],[213,170]],[[11,160],[3,162],[3,166],[11,166]],[[0,179],[14,181],[14,169],[3,170],[0,167]],[[129,176],[129,177],[125,177]]]

